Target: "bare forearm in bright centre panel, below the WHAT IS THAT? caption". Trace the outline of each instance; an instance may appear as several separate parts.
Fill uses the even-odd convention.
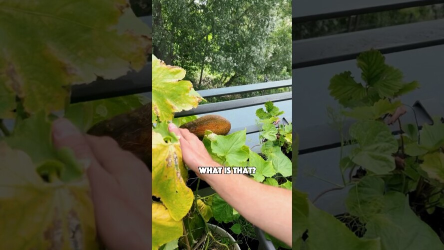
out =
[[[241,174],[213,175],[207,180],[243,217],[291,246],[292,193]]]

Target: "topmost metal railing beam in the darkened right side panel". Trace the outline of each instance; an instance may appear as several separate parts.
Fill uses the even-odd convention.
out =
[[[444,0],[294,0],[293,23],[443,3]]]

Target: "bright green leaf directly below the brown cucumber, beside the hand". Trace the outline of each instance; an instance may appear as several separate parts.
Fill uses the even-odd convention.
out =
[[[245,166],[250,149],[245,145],[247,129],[229,135],[215,135],[211,142],[211,151],[225,157],[230,166]]]

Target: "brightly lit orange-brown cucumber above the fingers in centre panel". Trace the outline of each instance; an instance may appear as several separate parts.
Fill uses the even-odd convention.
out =
[[[205,130],[210,130],[219,135],[228,134],[231,129],[231,123],[220,115],[208,114],[187,122],[181,125],[180,128],[186,128],[202,139],[205,136]]]

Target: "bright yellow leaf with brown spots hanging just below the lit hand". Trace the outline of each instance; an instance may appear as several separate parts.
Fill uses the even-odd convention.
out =
[[[178,141],[167,143],[160,133],[152,131],[152,153],[156,155],[152,158],[152,195],[161,198],[171,217],[178,221],[193,203],[193,192],[183,178],[187,171],[180,144]]]

